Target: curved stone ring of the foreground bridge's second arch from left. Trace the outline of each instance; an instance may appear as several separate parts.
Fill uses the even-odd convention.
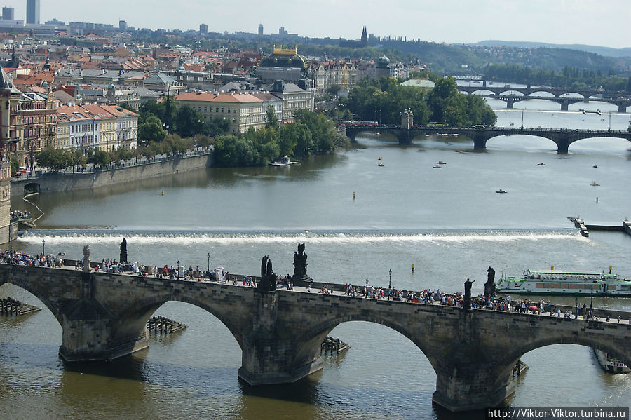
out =
[[[167,302],[184,302],[207,311],[228,328],[232,336],[236,339],[239,348],[243,349],[243,337],[240,335],[239,327],[236,323],[232,322],[229,317],[231,311],[226,311],[226,308],[220,305],[208,304],[205,299],[190,297],[186,294],[176,297],[172,296],[172,294],[158,294],[134,301],[133,304],[128,305],[124,311],[117,314],[116,323],[113,327],[114,334],[119,337],[140,335],[144,332],[147,320]]]

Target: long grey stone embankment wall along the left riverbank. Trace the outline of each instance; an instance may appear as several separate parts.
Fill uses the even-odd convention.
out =
[[[210,168],[215,161],[214,154],[206,152],[186,156],[174,156],[159,161],[143,162],[139,165],[106,168],[81,173],[47,173],[38,177],[27,177],[11,181],[11,196],[24,196],[25,189],[39,193],[70,191],[75,189],[95,189],[114,184],[137,182],[142,179],[177,175],[203,168]]]

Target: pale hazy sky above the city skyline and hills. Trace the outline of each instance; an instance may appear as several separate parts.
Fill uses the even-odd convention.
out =
[[[4,0],[25,19],[26,0]],[[486,39],[631,47],[631,0],[41,0],[41,22],[301,36],[378,36],[445,43]]]

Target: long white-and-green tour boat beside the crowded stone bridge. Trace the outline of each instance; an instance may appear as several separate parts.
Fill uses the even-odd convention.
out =
[[[598,271],[526,270],[522,278],[504,277],[497,290],[528,294],[585,294],[631,297],[631,280]]]

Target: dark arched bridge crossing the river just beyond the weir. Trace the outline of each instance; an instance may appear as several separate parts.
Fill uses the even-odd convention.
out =
[[[438,135],[438,134],[457,134],[469,137],[473,140],[475,149],[485,149],[487,141],[493,137],[502,135],[534,135],[536,137],[545,137],[557,144],[559,153],[567,153],[569,145],[583,139],[594,137],[616,137],[629,140],[631,142],[631,132],[617,130],[570,130],[568,128],[519,128],[519,127],[489,127],[489,128],[473,128],[473,127],[412,127],[403,128],[401,126],[347,126],[346,137],[355,141],[355,137],[359,133],[380,133],[390,134],[397,137],[400,144],[412,144],[414,137],[419,135]]]

